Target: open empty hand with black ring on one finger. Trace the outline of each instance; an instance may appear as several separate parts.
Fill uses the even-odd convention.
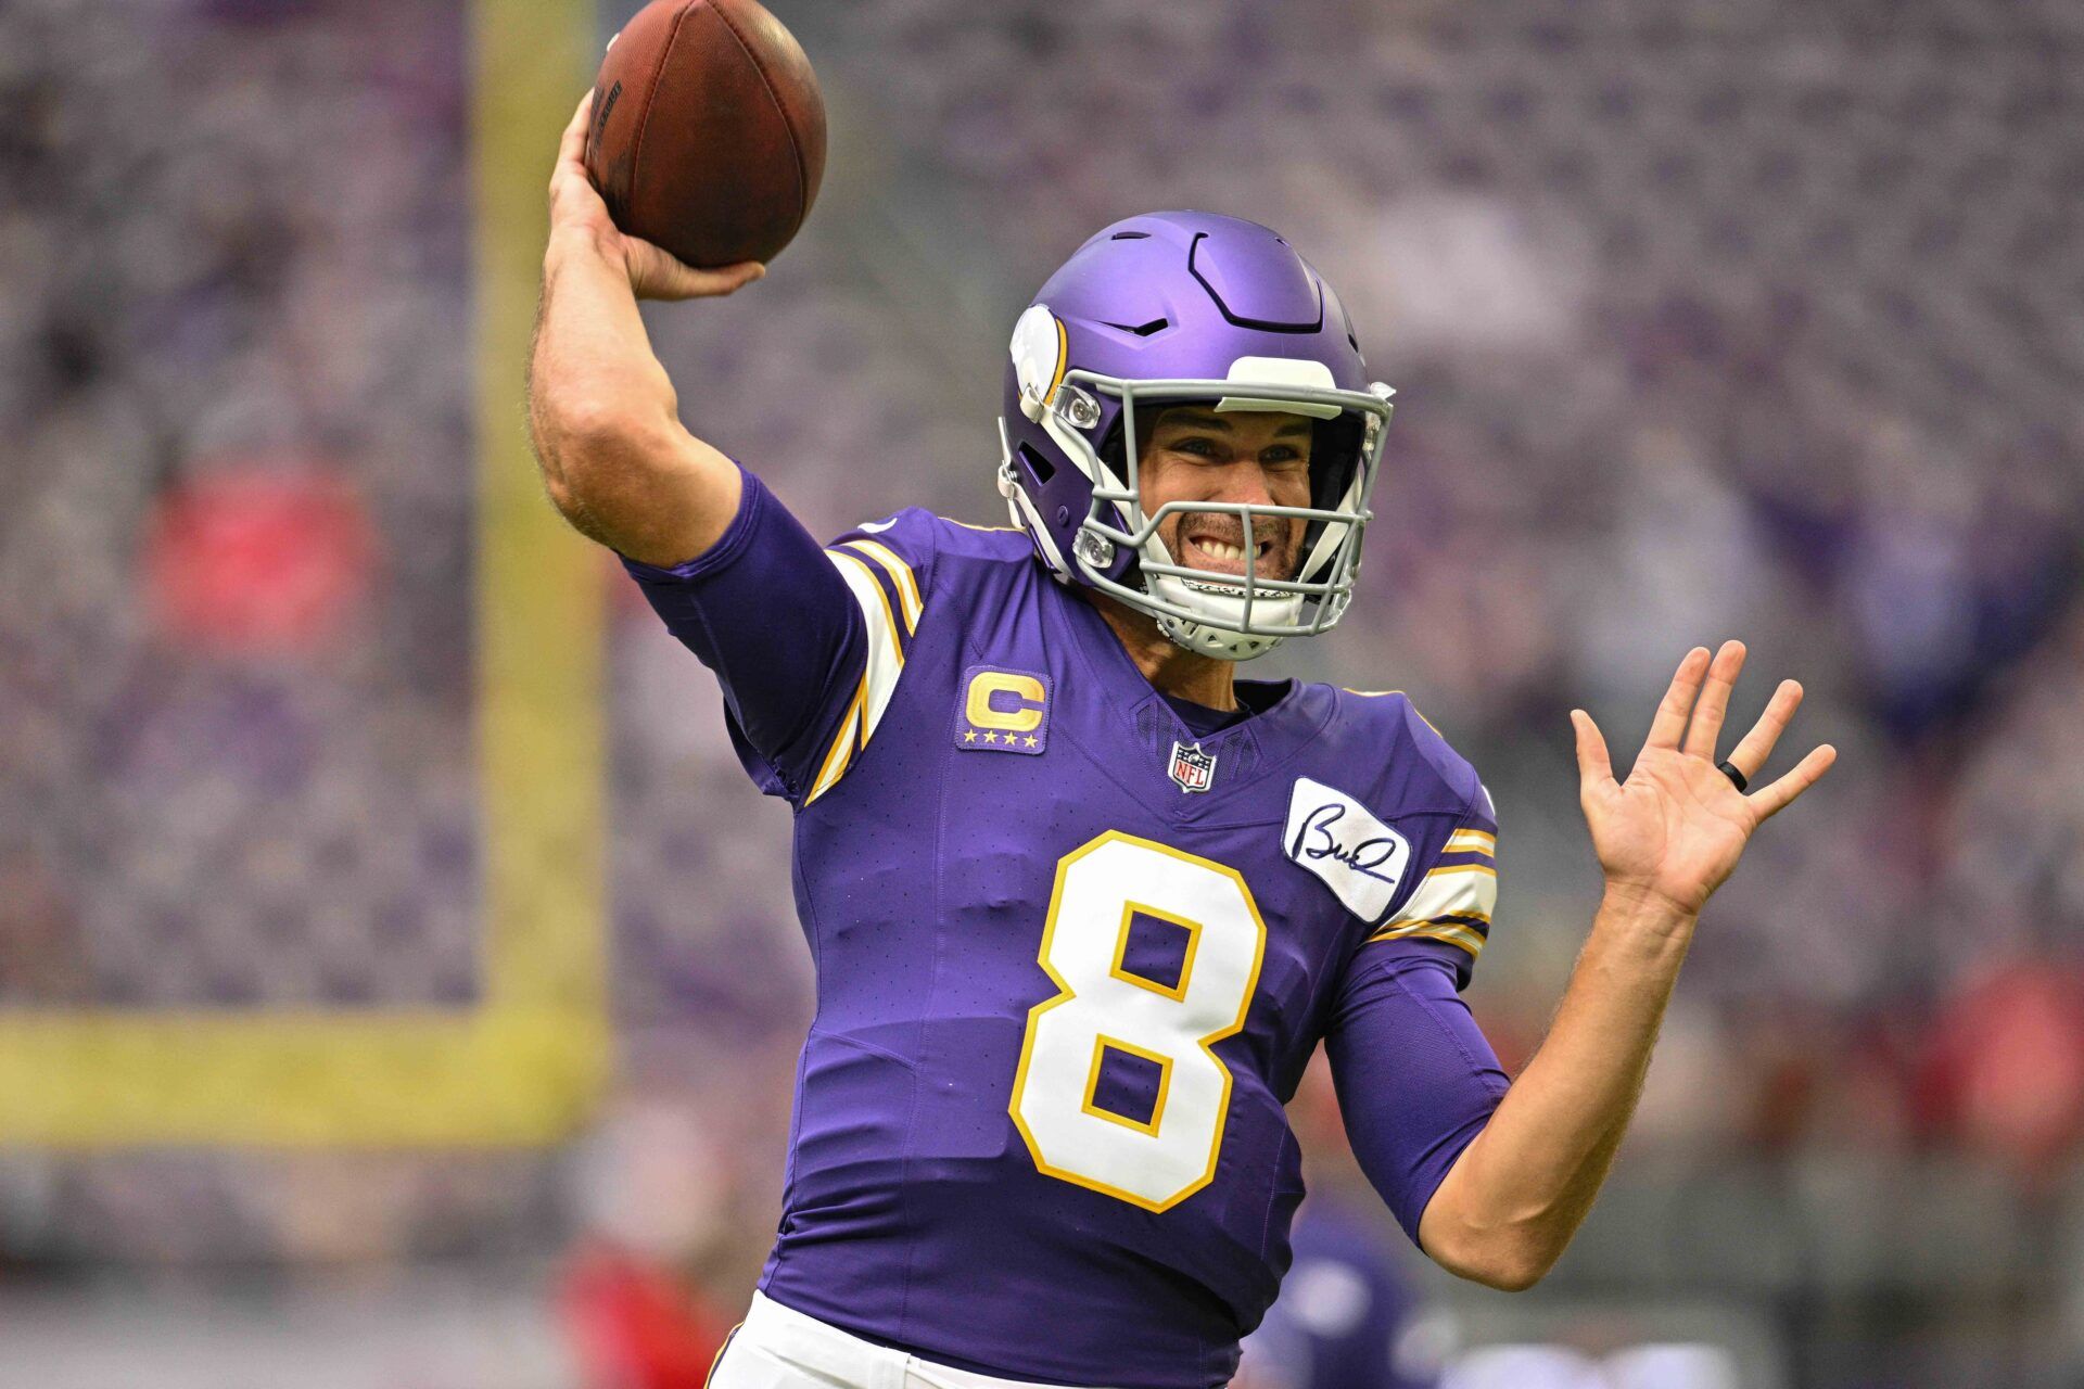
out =
[[[1578,804],[1584,806],[1609,889],[1644,893],[1684,914],[1698,914],[1744,856],[1751,831],[1786,810],[1838,760],[1836,748],[1824,743],[1778,781],[1748,795],[1738,791],[1715,766],[1715,739],[1742,668],[1742,641],[1726,641],[1713,660],[1705,646],[1686,652],[1628,781],[1613,779],[1607,739],[1592,716],[1571,710]],[[1801,702],[1803,687],[1782,681],[1759,723],[1730,752],[1730,764],[1757,779]]]

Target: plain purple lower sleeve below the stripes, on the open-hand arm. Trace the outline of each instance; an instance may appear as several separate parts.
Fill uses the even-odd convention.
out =
[[[1455,964],[1425,952],[1355,954],[1325,1054],[1353,1156],[1417,1243],[1425,1204],[1509,1085],[1457,991]]]

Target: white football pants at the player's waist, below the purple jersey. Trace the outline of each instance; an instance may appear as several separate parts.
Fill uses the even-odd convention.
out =
[[[706,1389],[1055,1389],[921,1360],[863,1341],[763,1293],[731,1333]]]

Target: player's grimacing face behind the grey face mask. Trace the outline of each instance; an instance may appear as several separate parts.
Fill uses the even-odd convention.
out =
[[[1167,502],[1309,506],[1313,433],[1302,414],[1169,406],[1142,441],[1144,514]],[[1186,508],[1159,523],[1159,539],[1180,564],[1217,575],[1244,573],[1246,544],[1257,546],[1252,573],[1261,579],[1294,579],[1302,558],[1298,516],[1259,516],[1246,537],[1234,512]]]

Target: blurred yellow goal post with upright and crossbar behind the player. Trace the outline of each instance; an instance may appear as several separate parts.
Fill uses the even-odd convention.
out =
[[[609,1068],[604,566],[544,502],[523,379],[552,152],[592,0],[467,0],[477,1000],[0,1010],[0,1145],[531,1145]]]

